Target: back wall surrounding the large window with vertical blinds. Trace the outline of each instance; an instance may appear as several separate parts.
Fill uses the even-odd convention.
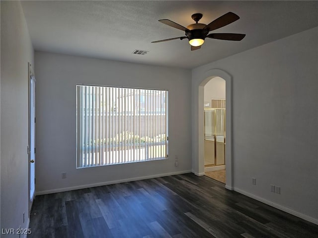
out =
[[[190,70],[44,52],[35,53],[35,64],[38,194],[191,171]],[[168,89],[169,159],[76,169],[77,83]],[[66,179],[61,178],[62,172],[67,172]]]

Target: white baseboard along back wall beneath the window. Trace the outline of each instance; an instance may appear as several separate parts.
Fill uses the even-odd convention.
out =
[[[170,173],[148,175],[143,177],[126,178],[126,179],[120,179],[120,180],[105,181],[100,183],[85,184],[85,185],[79,185],[74,187],[57,188],[57,189],[51,189],[51,190],[38,191],[35,193],[35,195],[66,192],[66,191],[72,191],[72,190],[77,190],[82,188],[98,187],[98,186],[115,184],[115,183],[131,182],[131,181],[137,181],[137,180],[143,180],[143,179],[149,179],[149,178],[158,178],[158,177],[164,177],[164,176],[170,176],[170,175],[176,175],[176,174],[182,174],[182,173],[191,173],[191,172],[192,172],[191,170],[184,170],[184,171],[177,171],[177,172],[170,172]]]

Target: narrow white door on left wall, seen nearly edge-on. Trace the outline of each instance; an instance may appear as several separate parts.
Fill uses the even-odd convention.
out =
[[[29,64],[29,213],[35,195],[35,79]]]

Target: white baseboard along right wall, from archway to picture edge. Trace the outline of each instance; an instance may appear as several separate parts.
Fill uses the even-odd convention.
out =
[[[271,202],[271,201],[268,201],[268,200],[266,200],[266,199],[264,199],[264,198],[255,196],[255,195],[253,195],[253,194],[251,194],[251,193],[248,193],[248,192],[246,192],[246,191],[244,191],[244,190],[241,190],[241,189],[239,189],[239,188],[234,188],[234,191],[239,192],[239,193],[241,193],[241,194],[243,194],[243,195],[245,195],[245,196],[247,196],[247,197],[253,198],[253,199],[255,199],[255,200],[257,200],[257,201],[260,201],[260,202],[262,202],[262,203],[265,203],[265,204],[267,204],[267,205],[269,205],[269,206],[272,206],[272,207],[274,207],[274,208],[277,208],[277,209],[279,209],[279,210],[282,210],[282,211],[284,211],[284,212],[287,212],[287,213],[289,213],[289,214],[292,214],[292,215],[294,215],[294,216],[296,216],[296,217],[302,218],[302,219],[304,219],[304,220],[306,220],[306,221],[308,221],[308,222],[311,222],[311,223],[314,223],[314,224],[318,225],[318,220],[315,219],[315,218],[313,218],[313,217],[309,217],[309,216],[307,216],[307,215],[305,215],[305,214],[296,212],[296,211],[294,211],[294,210],[292,210],[292,209],[289,209],[289,208],[287,208],[287,207],[283,207],[283,206],[281,206],[281,205],[279,205],[279,204],[276,204],[276,203],[273,203],[273,202]]]

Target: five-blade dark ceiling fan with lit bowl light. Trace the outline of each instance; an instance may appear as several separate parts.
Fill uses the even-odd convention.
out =
[[[214,21],[210,22],[208,25],[198,23],[198,21],[202,18],[203,14],[195,13],[192,14],[192,19],[195,21],[194,24],[188,25],[187,27],[181,26],[178,23],[175,23],[168,19],[159,20],[161,23],[166,24],[168,26],[177,28],[179,30],[183,30],[185,32],[185,36],[174,37],[165,40],[153,41],[152,43],[158,43],[169,40],[176,39],[188,39],[189,44],[191,45],[192,50],[198,50],[201,48],[201,45],[204,43],[205,38],[213,38],[219,40],[232,40],[232,41],[240,41],[245,37],[245,34],[236,34],[236,33],[211,33],[210,31],[219,29],[223,26],[226,26],[236,20],[239,20],[239,16],[233,12],[228,12]]]

